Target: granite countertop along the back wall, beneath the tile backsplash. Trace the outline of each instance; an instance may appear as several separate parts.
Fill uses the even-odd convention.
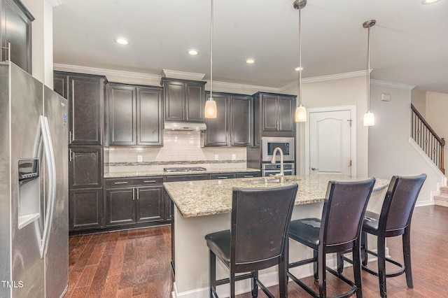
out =
[[[124,172],[113,172],[105,173],[104,178],[127,178],[127,177],[146,177],[146,176],[175,176],[175,175],[196,175],[204,173],[241,173],[241,172],[259,172],[260,169],[252,168],[225,168],[225,169],[207,169],[207,171],[188,171],[188,172],[176,172],[176,173],[165,173],[163,170],[154,171],[124,171]]]

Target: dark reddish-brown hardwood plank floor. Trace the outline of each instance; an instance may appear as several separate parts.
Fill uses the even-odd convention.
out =
[[[415,208],[411,237],[414,289],[407,288],[404,275],[388,278],[388,297],[448,297],[448,208]],[[69,290],[64,297],[171,297],[170,246],[168,226],[73,236],[69,241]],[[388,239],[388,247],[392,257],[402,260],[400,237]],[[351,278],[351,271],[346,268],[344,274]],[[304,281],[316,287],[313,278]],[[345,290],[331,274],[328,283],[330,295]],[[276,287],[269,290],[278,296]],[[377,278],[365,272],[363,293],[367,298],[379,297]],[[293,282],[288,294],[310,297]],[[266,296],[260,291],[258,297]]]

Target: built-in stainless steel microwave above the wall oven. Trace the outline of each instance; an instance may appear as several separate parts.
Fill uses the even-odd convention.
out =
[[[286,162],[295,161],[294,138],[281,138],[263,136],[261,138],[261,154],[263,162],[270,162],[275,148],[279,147],[283,151],[283,160]],[[277,151],[276,155],[280,155]],[[277,159],[279,161],[280,159]]]

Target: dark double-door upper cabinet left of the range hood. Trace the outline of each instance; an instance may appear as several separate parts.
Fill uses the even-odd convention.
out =
[[[162,94],[160,87],[109,83],[109,146],[162,146]]]

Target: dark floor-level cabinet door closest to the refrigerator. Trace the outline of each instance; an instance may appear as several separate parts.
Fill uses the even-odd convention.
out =
[[[103,189],[69,190],[69,229],[99,229],[103,219]]]

